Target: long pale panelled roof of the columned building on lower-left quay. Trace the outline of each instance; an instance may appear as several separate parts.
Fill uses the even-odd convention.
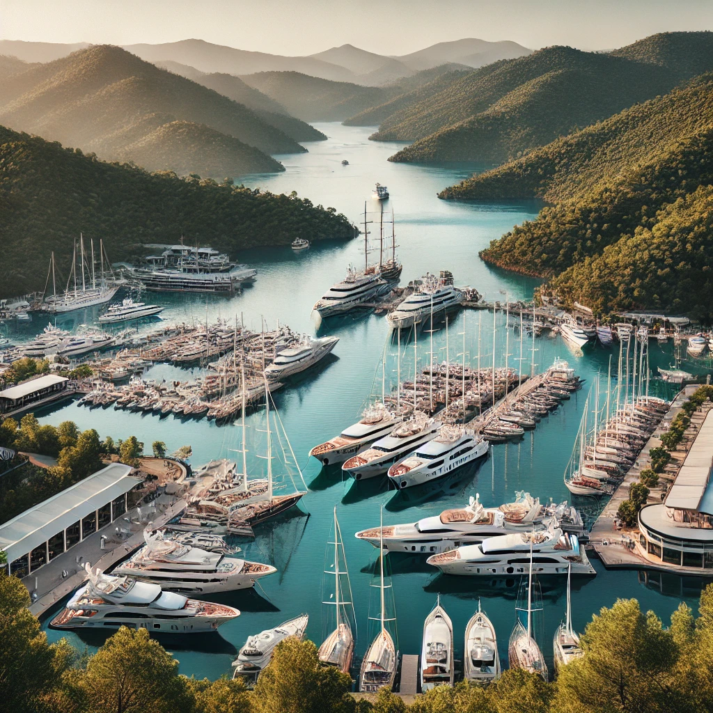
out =
[[[8,562],[26,555],[77,520],[93,513],[141,483],[132,468],[111,463],[83,481],[0,525],[0,550]]]

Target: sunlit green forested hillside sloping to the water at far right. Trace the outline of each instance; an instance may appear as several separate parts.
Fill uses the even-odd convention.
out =
[[[554,277],[553,287],[570,302],[602,311],[641,307],[707,316],[713,311],[706,293],[713,241],[700,238],[707,235],[701,231],[710,197],[692,194],[712,177],[713,74],[705,74],[448,188],[441,198],[553,202],[537,220],[494,240],[481,257]],[[668,204],[679,199],[672,210]],[[647,235],[655,238],[650,250]],[[690,240],[681,242],[685,235]],[[644,252],[635,257],[634,247]]]

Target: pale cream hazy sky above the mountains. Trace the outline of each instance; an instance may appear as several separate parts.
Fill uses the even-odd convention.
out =
[[[305,55],[351,43],[399,55],[478,37],[609,49],[713,29],[713,0],[0,0],[0,39],[132,44],[190,37]]]

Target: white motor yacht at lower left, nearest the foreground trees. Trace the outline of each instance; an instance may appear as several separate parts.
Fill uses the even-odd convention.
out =
[[[240,616],[233,607],[164,592],[159,585],[84,568],[89,581],[50,622],[53,629],[112,629],[120,626],[154,633],[198,634],[215,631]]]

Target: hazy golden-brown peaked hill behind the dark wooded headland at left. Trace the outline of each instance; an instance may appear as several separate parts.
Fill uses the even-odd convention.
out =
[[[233,148],[218,178],[236,166],[237,174],[281,170],[267,153],[304,152],[242,104],[118,47],[91,46],[0,79],[0,124],[94,151],[101,158],[136,160],[134,144],[176,120],[205,125],[237,140],[224,142]],[[186,155],[143,153],[143,165],[177,169],[189,155],[210,149],[202,143],[208,135],[204,130],[194,136],[186,133]]]

